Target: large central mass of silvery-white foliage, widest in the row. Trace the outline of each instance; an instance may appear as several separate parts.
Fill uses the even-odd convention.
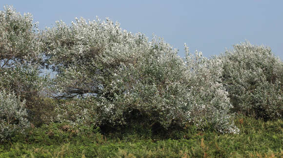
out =
[[[46,62],[57,72],[53,96],[81,96],[88,102],[59,105],[61,121],[78,116],[74,122],[91,118],[88,122],[97,125],[125,124],[125,116],[138,110],[165,128],[195,123],[238,132],[227,113],[232,107],[227,93],[214,79],[222,73],[217,59],[187,55],[185,63],[162,39],[148,41],[108,19],[57,21],[41,36]],[[77,115],[68,114],[78,105]]]

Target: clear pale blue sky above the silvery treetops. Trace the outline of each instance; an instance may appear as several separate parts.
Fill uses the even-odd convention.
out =
[[[40,29],[109,17],[132,33],[163,38],[181,57],[184,43],[210,57],[248,40],[283,59],[283,0],[0,0],[1,10],[5,4],[31,13]]]

